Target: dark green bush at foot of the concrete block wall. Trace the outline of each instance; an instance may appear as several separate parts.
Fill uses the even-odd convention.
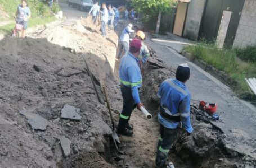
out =
[[[248,46],[244,49],[235,49],[237,57],[246,62],[256,63],[256,46]]]

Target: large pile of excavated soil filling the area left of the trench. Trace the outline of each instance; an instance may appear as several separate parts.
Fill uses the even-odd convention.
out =
[[[0,41],[0,167],[113,167],[103,158],[111,134],[109,114],[77,52],[84,54],[101,99],[105,85],[114,104],[120,100],[113,78],[117,36],[104,39],[79,24],[31,36],[35,39]],[[80,109],[80,120],[60,117],[66,104]],[[46,130],[32,129],[21,110],[46,119]],[[63,136],[70,147],[61,146]],[[68,157],[62,147],[70,148]],[[72,165],[75,158],[87,161]]]

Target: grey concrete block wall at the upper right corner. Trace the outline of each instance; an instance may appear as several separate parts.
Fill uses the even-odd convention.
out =
[[[233,46],[256,45],[256,0],[245,0]]]

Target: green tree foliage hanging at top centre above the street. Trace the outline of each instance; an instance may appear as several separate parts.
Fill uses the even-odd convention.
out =
[[[174,4],[176,4],[174,0],[132,0],[134,10],[143,15],[142,20],[144,22],[157,16],[159,11],[168,12]]]

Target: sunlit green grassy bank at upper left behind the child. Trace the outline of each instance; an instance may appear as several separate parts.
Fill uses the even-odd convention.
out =
[[[30,8],[30,11],[31,11],[31,16],[32,16],[29,20],[29,27],[44,25],[44,24],[47,24],[48,22],[52,22],[56,20],[56,18],[52,16],[50,7],[48,7],[46,3],[40,0],[27,0],[27,1],[28,1],[28,7]],[[20,0],[12,0],[12,1],[0,0],[1,8],[3,9],[3,11],[8,13],[9,15],[9,18],[7,18],[7,20],[14,21],[14,18],[16,17],[15,15],[17,11],[17,6],[19,4],[21,4]],[[57,4],[54,5],[54,10],[55,11],[60,10]],[[14,23],[15,21],[12,24],[1,26],[0,32],[10,33],[12,29],[14,29]]]

